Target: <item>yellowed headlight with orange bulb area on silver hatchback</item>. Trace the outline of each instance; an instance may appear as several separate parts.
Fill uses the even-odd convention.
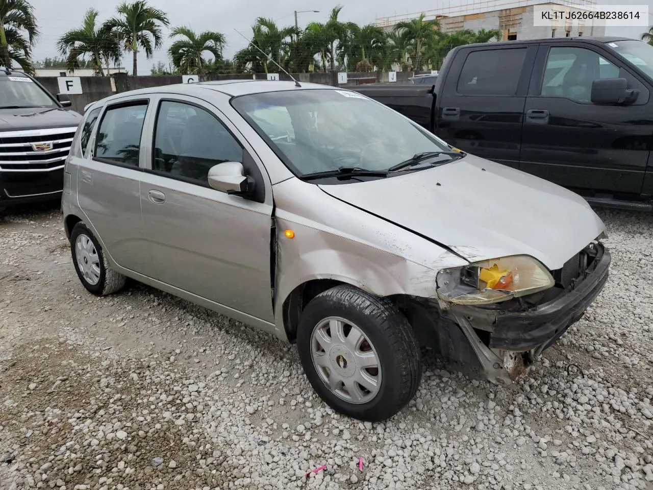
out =
[[[455,304],[490,304],[555,285],[549,270],[528,255],[475,262],[438,272],[438,297]]]

